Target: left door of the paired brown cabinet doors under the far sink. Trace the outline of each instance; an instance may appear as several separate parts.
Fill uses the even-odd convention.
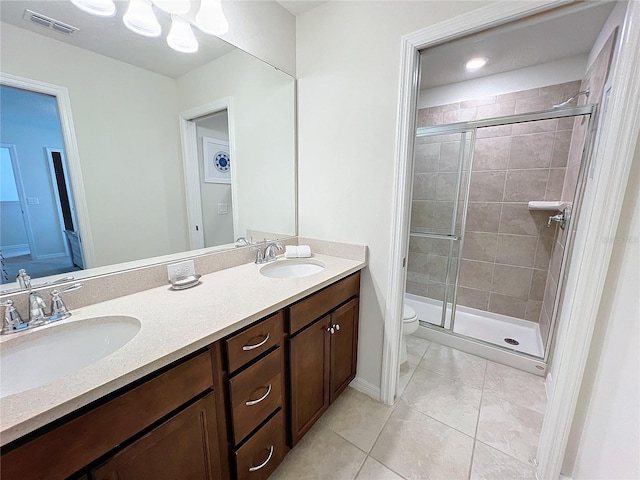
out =
[[[321,318],[289,343],[293,445],[329,407],[329,320]]]

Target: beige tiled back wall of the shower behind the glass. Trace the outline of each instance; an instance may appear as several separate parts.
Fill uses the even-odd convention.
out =
[[[580,82],[430,107],[418,126],[545,110],[573,95]],[[546,120],[478,130],[472,169],[458,303],[537,322],[554,240],[549,212],[530,200],[560,200],[573,120]],[[450,228],[456,144],[451,136],[416,141],[412,230]],[[450,220],[449,220],[450,221]],[[411,238],[407,291],[442,299],[448,249]],[[454,258],[457,261],[457,258]]]

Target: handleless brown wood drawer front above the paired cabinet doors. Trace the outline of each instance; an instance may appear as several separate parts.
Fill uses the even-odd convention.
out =
[[[360,291],[360,272],[300,300],[289,307],[289,333],[294,334]]]

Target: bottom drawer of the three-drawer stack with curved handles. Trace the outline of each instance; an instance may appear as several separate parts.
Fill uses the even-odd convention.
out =
[[[284,415],[280,410],[236,451],[238,480],[264,480],[285,455]]]

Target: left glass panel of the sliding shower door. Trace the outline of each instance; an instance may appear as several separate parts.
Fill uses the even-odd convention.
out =
[[[474,134],[418,129],[407,265],[407,303],[421,321],[451,328]]]

